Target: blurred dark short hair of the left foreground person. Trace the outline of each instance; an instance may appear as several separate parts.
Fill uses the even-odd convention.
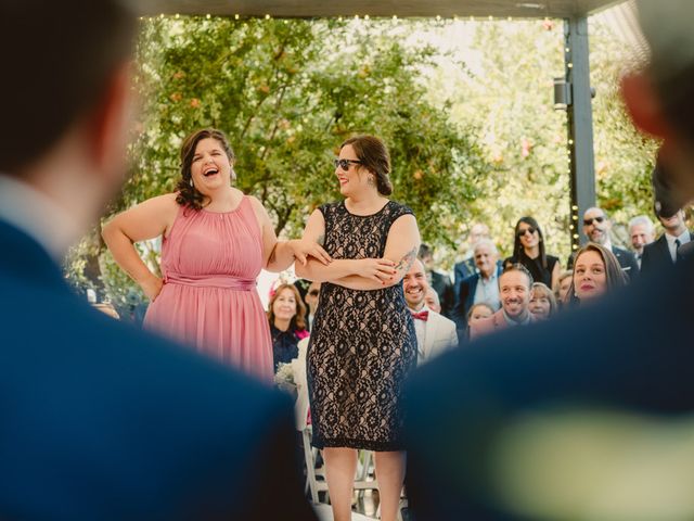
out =
[[[136,27],[121,0],[0,1],[0,171],[38,161],[101,101]]]

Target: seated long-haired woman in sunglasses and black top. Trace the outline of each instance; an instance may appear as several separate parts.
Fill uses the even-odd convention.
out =
[[[532,280],[553,288],[561,274],[560,259],[544,251],[544,238],[538,221],[532,217],[520,217],[516,223],[513,242],[513,256],[506,262],[525,266]]]

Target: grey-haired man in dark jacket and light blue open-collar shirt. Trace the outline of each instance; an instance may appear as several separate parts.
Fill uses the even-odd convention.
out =
[[[489,239],[477,241],[473,249],[473,257],[478,272],[461,282],[458,289],[460,295],[458,306],[451,315],[459,330],[466,328],[467,313],[474,304],[484,302],[494,312],[501,307],[501,302],[499,301],[499,275],[501,275],[502,270],[497,263],[499,252],[496,244]]]

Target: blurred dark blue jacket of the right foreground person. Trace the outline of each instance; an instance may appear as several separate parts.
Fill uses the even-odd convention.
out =
[[[408,493],[417,521],[550,519],[534,514],[534,504],[565,507],[551,519],[573,519],[581,511],[574,493],[595,492],[591,480],[615,475],[601,474],[600,457],[583,465],[586,447],[605,456],[626,444],[611,463],[626,461],[626,476],[643,470],[634,493],[642,490],[651,472],[644,445],[633,450],[630,436],[645,424],[650,443],[677,443],[694,410],[693,293],[689,257],[663,278],[640,279],[592,306],[504,330],[419,368],[406,395]],[[661,323],[677,327],[650,326]],[[648,437],[653,432],[658,436]],[[661,461],[658,454],[645,461]],[[616,484],[621,497],[628,481]],[[611,487],[601,490],[612,505]]]

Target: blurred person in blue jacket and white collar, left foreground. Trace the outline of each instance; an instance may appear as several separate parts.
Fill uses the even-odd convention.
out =
[[[0,1],[0,518],[314,519],[285,397],[65,284],[124,180],[136,31],[117,0]]]

